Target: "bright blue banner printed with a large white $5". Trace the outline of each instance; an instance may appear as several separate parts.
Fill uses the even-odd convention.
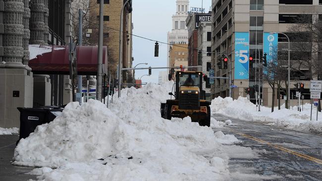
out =
[[[249,33],[235,33],[235,79],[249,79]]]

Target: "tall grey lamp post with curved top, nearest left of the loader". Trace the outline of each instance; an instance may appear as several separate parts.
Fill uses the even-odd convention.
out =
[[[119,21],[119,45],[118,45],[118,97],[121,96],[121,86],[122,86],[122,47],[123,47],[123,10],[125,5],[129,2],[130,0],[126,0],[122,6],[121,9],[121,14],[120,14],[120,21]]]

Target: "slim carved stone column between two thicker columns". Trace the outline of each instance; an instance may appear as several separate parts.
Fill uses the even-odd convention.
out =
[[[29,30],[29,19],[30,19],[30,9],[29,9],[29,0],[23,0],[24,3],[24,13],[23,13],[23,27],[24,27],[24,35],[22,38],[22,46],[23,46],[23,59],[22,63],[26,66],[26,69],[31,68],[28,66],[29,62],[29,39],[30,39],[30,30]]]

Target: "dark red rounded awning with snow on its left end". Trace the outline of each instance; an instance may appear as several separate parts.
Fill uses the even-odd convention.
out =
[[[78,75],[97,75],[98,46],[76,46]],[[107,72],[107,47],[103,46],[103,72]],[[34,74],[69,75],[69,47],[52,46],[52,52],[29,61]]]

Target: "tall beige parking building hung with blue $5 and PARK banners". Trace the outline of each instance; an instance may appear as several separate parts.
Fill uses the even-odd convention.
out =
[[[255,85],[261,86],[261,98],[263,104],[272,106],[272,89],[267,83],[263,84],[260,76],[263,70],[259,70],[253,61],[258,61],[263,53],[269,52],[273,47],[268,47],[275,41],[279,51],[286,51],[286,38],[277,33],[288,34],[289,28],[294,25],[294,19],[300,16],[314,17],[322,14],[321,0],[213,0],[212,1],[212,64],[215,65],[215,76],[228,77],[228,69],[220,69],[222,53],[225,53],[231,65],[232,97],[246,96],[245,89]],[[286,50],[285,50],[286,48]],[[292,50],[292,41],[291,41]],[[291,65],[294,58],[291,56]],[[305,71],[305,70],[303,70]],[[261,73],[260,73],[261,72]],[[284,70],[287,73],[287,67]],[[293,84],[301,81],[305,87],[309,87],[309,79],[304,75],[299,76],[296,72],[291,72],[292,94],[295,95]],[[264,87],[264,88],[263,88]],[[284,88],[285,89],[285,86]],[[228,96],[229,82],[225,79],[215,80],[212,86],[212,97]],[[255,99],[255,93],[250,93],[250,99]],[[276,95],[275,98],[277,99]],[[308,98],[309,99],[309,98]],[[277,101],[274,101],[275,105]],[[296,100],[292,100],[291,106],[295,105]]]

